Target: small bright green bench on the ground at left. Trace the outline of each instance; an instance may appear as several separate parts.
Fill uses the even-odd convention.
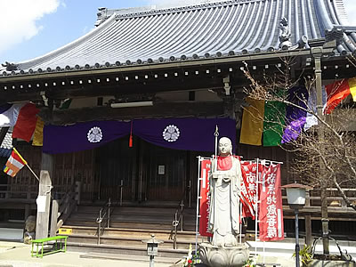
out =
[[[68,236],[55,236],[45,239],[35,239],[32,240],[32,249],[31,256],[34,256],[34,245],[36,244],[36,257],[43,258],[44,255],[53,254],[56,252],[66,252],[67,251],[67,239]],[[50,251],[44,252],[44,245],[48,244],[48,242],[53,242],[53,248]],[[38,251],[38,247],[40,247],[40,251]]]

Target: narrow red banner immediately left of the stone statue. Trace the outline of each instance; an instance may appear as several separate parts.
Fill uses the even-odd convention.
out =
[[[200,203],[199,203],[199,234],[204,237],[212,237],[213,235],[207,231],[209,221],[210,198],[209,192],[209,172],[211,168],[210,159],[204,159],[200,165]]]

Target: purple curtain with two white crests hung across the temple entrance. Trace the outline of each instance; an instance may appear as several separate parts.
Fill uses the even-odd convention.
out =
[[[173,150],[214,152],[214,132],[229,137],[235,148],[236,126],[230,118],[163,118],[134,120],[133,134]],[[131,122],[98,121],[69,126],[44,126],[44,153],[92,150],[130,134]]]

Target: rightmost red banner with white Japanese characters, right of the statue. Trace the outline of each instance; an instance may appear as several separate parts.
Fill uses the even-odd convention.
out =
[[[280,190],[280,164],[264,166],[260,177],[259,205],[260,240],[284,239],[282,194]]]

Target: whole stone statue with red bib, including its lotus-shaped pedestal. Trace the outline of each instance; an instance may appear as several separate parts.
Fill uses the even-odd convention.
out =
[[[239,243],[239,189],[242,179],[239,159],[231,155],[227,137],[219,140],[219,157],[209,175],[210,209],[208,231],[211,242],[199,244],[200,259],[207,266],[241,267],[249,255],[245,243]]]

